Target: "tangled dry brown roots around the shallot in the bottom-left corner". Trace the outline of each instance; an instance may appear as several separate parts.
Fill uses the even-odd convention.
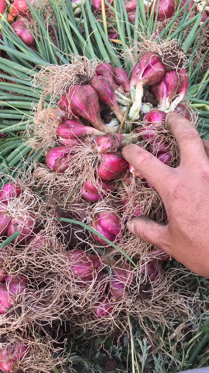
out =
[[[41,330],[30,329],[27,333],[16,330],[14,333],[1,335],[0,349],[12,347],[16,342],[25,343],[28,349],[25,357],[13,364],[13,373],[51,373],[56,366],[63,371],[62,365],[68,359],[68,354],[61,347],[55,348],[54,340],[48,335],[42,336]],[[53,357],[55,354],[58,355],[56,358]]]

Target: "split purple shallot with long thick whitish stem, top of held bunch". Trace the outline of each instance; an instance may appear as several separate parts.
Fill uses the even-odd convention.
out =
[[[154,53],[145,53],[134,66],[130,87],[135,89],[134,103],[129,112],[129,120],[135,121],[139,116],[145,85],[157,84],[164,76],[165,67],[160,57]]]

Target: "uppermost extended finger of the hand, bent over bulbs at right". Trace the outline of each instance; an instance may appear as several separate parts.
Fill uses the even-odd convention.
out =
[[[199,163],[199,160],[205,159],[208,161],[202,139],[189,120],[182,115],[171,112],[166,117],[166,124],[179,145],[181,163],[192,166]]]

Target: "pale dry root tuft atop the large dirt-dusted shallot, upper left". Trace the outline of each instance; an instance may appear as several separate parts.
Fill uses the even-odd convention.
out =
[[[44,95],[50,95],[51,101],[66,93],[74,84],[89,81],[95,76],[99,61],[86,57],[70,55],[71,63],[57,66],[44,66],[34,75],[33,86],[44,87]]]

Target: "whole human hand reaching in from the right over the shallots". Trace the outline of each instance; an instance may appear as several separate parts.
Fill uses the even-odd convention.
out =
[[[179,167],[165,165],[135,144],[122,154],[160,194],[168,225],[139,216],[127,227],[197,275],[209,277],[209,141],[202,141],[191,123],[174,112],[168,114],[167,126],[179,145]]]

